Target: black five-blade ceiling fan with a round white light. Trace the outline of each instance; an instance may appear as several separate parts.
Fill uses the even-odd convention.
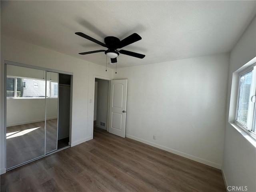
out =
[[[117,50],[117,49],[123,48],[124,46],[130,45],[136,41],[141,40],[142,38],[136,33],[131,34],[130,36],[124,38],[121,41],[117,37],[108,36],[108,37],[104,38],[105,44],[82,33],[82,32],[76,32],[75,34],[79,35],[83,38],[86,38],[94,43],[97,43],[103,47],[108,48],[108,50],[96,50],[96,51],[82,52],[82,53],[79,53],[80,55],[105,52],[105,54],[111,59],[111,63],[117,62],[116,58],[119,54],[125,54],[125,55],[129,55],[132,57],[140,58],[140,59],[145,57],[145,55],[143,55],[143,54],[139,54],[139,53],[135,53],[135,52],[127,51],[127,50]]]

